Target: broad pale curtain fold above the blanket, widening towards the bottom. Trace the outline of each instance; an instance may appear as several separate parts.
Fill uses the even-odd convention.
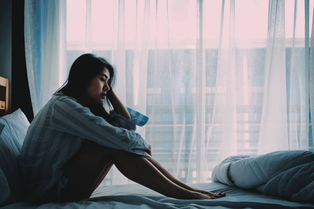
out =
[[[288,150],[284,0],[271,1],[258,154]]]

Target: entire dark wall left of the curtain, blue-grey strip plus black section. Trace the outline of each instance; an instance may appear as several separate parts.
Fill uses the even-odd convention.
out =
[[[9,79],[9,113],[18,108],[34,118],[24,47],[24,1],[1,1],[0,76]]]

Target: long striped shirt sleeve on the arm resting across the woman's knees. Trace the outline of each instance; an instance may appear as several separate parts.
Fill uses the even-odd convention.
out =
[[[51,112],[50,126],[54,130],[67,132],[103,146],[150,158],[142,150],[138,150],[149,150],[141,135],[133,130],[109,124],[105,119],[95,116],[89,108],[80,105],[70,97],[59,97],[52,105]]]

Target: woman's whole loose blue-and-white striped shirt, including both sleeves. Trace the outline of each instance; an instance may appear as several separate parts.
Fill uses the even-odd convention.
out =
[[[143,155],[139,148],[148,149],[145,140],[135,133],[148,118],[127,109],[132,119],[125,119],[113,110],[110,125],[95,116],[72,97],[57,93],[38,112],[27,131],[19,167],[24,201],[34,203],[59,201],[59,192],[68,179],[62,176],[64,164],[75,155],[84,139],[114,149]]]

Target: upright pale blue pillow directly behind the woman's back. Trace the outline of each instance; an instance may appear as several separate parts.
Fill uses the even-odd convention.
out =
[[[18,157],[30,125],[21,109],[0,118],[4,125],[0,135],[0,169],[2,169],[11,191],[8,204],[20,200]]]

